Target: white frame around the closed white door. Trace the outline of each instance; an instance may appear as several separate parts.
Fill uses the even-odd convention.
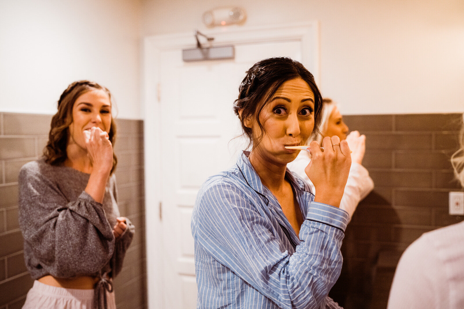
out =
[[[285,25],[255,27],[227,27],[204,31],[214,37],[213,45],[251,44],[282,40],[302,42],[303,65],[320,82],[319,23],[310,21]],[[162,265],[163,221],[161,209],[161,114],[159,113],[159,60],[165,50],[196,47],[192,33],[166,34],[145,37],[142,59],[142,115],[144,118],[144,165],[145,165],[145,241],[147,261],[148,308],[164,307],[164,273]]]

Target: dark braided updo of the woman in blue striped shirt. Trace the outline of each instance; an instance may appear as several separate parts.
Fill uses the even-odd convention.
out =
[[[308,83],[314,93],[314,130],[319,132],[322,111],[322,95],[317,88],[314,76],[298,61],[288,57],[274,57],[261,60],[246,71],[246,76],[238,87],[238,99],[234,101],[233,111],[238,115],[243,135],[248,140],[247,149],[257,146],[264,136],[264,128],[259,114],[282,84],[291,79],[301,78]],[[240,111],[240,113],[239,113]],[[251,128],[245,126],[245,120],[255,117],[261,129],[259,136],[253,136]]]

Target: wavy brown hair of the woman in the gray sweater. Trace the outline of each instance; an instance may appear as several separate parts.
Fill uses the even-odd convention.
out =
[[[66,146],[69,141],[68,128],[72,123],[72,107],[74,107],[74,103],[79,96],[95,89],[106,92],[111,102],[110,90],[96,82],[85,80],[71,83],[59,97],[58,112],[52,117],[50,133],[48,134],[48,142],[44,149],[46,163],[51,165],[61,165],[68,157],[66,153]],[[110,132],[108,132],[108,135],[110,136],[110,142],[114,147],[116,139],[116,124],[113,117],[111,117]],[[113,152],[113,167],[111,168],[111,174],[115,171],[116,164],[117,158]]]

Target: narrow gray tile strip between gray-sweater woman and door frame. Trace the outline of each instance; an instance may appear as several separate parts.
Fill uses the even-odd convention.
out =
[[[145,254],[145,193],[143,181],[143,122],[119,119],[115,153],[118,206],[135,225],[135,235],[114,281],[117,308],[147,308]]]

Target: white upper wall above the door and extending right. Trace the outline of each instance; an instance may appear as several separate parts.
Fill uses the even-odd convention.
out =
[[[464,112],[462,0],[142,0],[142,34],[206,30],[227,5],[245,26],[319,21],[320,88],[342,114]]]

